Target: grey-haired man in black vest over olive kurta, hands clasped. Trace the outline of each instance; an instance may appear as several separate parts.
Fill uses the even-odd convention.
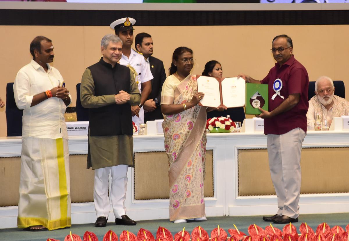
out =
[[[131,106],[139,104],[141,94],[129,68],[118,64],[122,54],[120,38],[104,36],[101,51],[103,57],[85,70],[80,87],[81,104],[90,113],[87,168],[95,170],[95,226],[106,225],[109,199],[115,223],[135,225],[126,215],[124,202],[127,170],[134,166]]]

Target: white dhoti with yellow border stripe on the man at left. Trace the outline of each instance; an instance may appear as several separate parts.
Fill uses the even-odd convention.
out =
[[[22,139],[17,227],[70,227],[68,140]]]

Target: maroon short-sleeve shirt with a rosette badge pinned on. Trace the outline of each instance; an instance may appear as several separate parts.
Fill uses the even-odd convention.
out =
[[[280,95],[284,99],[277,95],[272,100],[275,94],[273,84],[276,79],[282,81]],[[261,83],[268,84],[269,112],[284,102],[290,94],[300,94],[299,102],[295,107],[272,118],[264,119],[264,133],[281,135],[297,127],[306,133],[309,76],[305,67],[292,55],[281,67],[276,63]]]

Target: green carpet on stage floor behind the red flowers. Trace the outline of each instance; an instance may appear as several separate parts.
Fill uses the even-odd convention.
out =
[[[335,213],[335,214],[303,214],[299,216],[299,222],[294,223],[299,231],[299,225],[302,222],[306,222],[308,226],[312,227],[315,231],[317,226],[322,222],[328,223],[331,228],[335,225],[339,225],[345,228],[349,223],[349,213]],[[54,231],[42,231],[42,232],[29,232],[23,231],[18,228],[6,228],[0,230],[0,240],[1,241],[13,241],[13,240],[25,240],[25,241],[46,241],[47,238],[58,239],[60,241],[64,241],[65,236],[69,234],[69,231],[75,233],[77,235],[82,236],[88,230],[94,232],[99,241],[103,240],[104,234],[111,229],[118,236],[120,236],[121,232],[125,229],[130,232],[133,232],[137,235],[137,232],[140,228],[148,229],[153,233],[154,237],[156,236],[156,231],[159,226],[168,228],[172,234],[181,231],[183,227],[185,230],[191,233],[193,228],[196,226],[203,227],[208,234],[212,229],[216,228],[219,225],[225,231],[228,232],[229,228],[233,228],[233,224],[235,224],[240,231],[247,234],[247,228],[251,224],[259,225],[262,228],[265,228],[269,225],[268,222],[262,220],[262,216],[243,216],[243,217],[208,217],[207,221],[190,221],[186,224],[174,224],[170,222],[169,219],[161,219],[161,220],[146,220],[146,221],[138,221],[136,226],[122,226],[115,225],[113,222],[107,224],[106,227],[96,228],[93,224],[76,224],[70,228],[59,229]],[[283,224],[275,224],[273,225],[277,228],[282,229]],[[230,235],[228,234],[228,237]]]

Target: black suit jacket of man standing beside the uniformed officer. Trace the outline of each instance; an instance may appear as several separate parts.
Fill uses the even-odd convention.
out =
[[[151,80],[151,92],[148,96],[148,100],[157,98],[160,104],[162,85],[166,79],[164,63],[153,56],[150,56],[148,61],[150,64],[151,74],[154,77],[154,79]],[[160,106],[158,106],[154,111],[144,113],[144,122],[154,121],[156,119],[163,119],[163,118],[164,117],[161,113]]]

